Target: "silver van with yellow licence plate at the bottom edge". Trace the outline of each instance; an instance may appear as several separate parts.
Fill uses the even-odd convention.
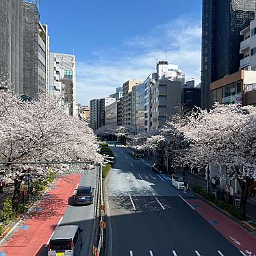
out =
[[[79,255],[82,246],[81,233],[79,226],[57,227],[49,242],[48,256]]]

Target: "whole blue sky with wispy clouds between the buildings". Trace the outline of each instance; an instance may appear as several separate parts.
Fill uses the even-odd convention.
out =
[[[75,53],[82,105],[146,79],[165,58],[199,83],[201,0],[40,0],[40,21],[51,51]]]

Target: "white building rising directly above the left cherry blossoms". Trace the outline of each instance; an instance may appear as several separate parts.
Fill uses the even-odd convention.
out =
[[[50,53],[49,86],[58,86],[63,79],[73,83],[73,102],[67,104],[73,107],[73,116],[77,116],[77,81],[75,71],[75,55]],[[65,103],[66,104],[66,103]]]

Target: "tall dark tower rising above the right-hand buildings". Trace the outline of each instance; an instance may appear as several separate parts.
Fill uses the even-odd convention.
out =
[[[240,31],[255,19],[256,0],[203,0],[202,107],[211,107],[210,84],[239,71]]]

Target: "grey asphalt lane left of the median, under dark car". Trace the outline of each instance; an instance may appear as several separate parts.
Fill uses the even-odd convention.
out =
[[[79,185],[91,185],[93,188],[97,188],[98,173],[96,170],[86,170],[81,177]],[[94,190],[96,194],[96,190]],[[92,205],[73,205],[73,197],[68,200],[68,207],[60,222],[60,225],[79,225],[84,230],[82,233],[83,246],[81,248],[80,255],[88,256],[92,249],[92,229],[94,222],[94,205],[96,196],[94,196],[94,203]],[[44,251],[42,255],[47,255]]]

